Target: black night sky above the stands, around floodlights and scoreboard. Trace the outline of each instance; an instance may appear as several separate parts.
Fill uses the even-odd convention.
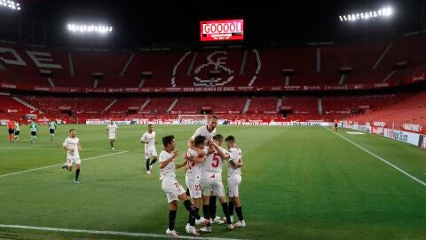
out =
[[[327,3],[326,3],[327,2]],[[0,14],[0,38],[16,36],[19,20],[46,22],[47,44],[66,45],[70,20],[105,22],[114,46],[199,44],[199,21],[244,19],[246,44],[334,41],[392,35],[420,29],[420,0],[196,1],[196,0],[22,0],[19,13]],[[391,5],[392,20],[343,24],[338,16]],[[3,11],[3,10],[2,10]],[[4,13],[4,12],[0,12]],[[91,42],[93,43],[93,42]]]

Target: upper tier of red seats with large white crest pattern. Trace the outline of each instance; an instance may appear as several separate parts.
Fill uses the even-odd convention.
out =
[[[186,52],[67,52],[14,44],[0,44],[0,47],[0,83],[83,87],[400,82],[426,62],[426,36],[407,36],[382,43]],[[42,64],[60,67],[43,66],[37,59]],[[17,60],[25,66],[17,66]],[[41,69],[51,69],[51,80],[40,74]],[[291,73],[284,74],[283,69],[291,69]]]

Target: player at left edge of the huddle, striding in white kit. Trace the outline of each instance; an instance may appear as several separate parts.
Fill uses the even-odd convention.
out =
[[[193,236],[199,236],[200,234],[195,229],[195,220],[201,220],[200,215],[194,208],[193,204],[189,200],[189,197],[185,195],[185,189],[176,180],[176,169],[184,167],[186,161],[183,164],[176,164],[175,158],[178,153],[175,151],[176,142],[173,135],[165,136],[162,138],[162,144],[164,149],[160,153],[160,180],[162,180],[162,190],[166,193],[167,200],[170,204],[169,212],[169,228],[166,230],[166,234],[171,237],[179,237],[175,231],[175,220],[177,214],[177,200],[184,201],[186,210],[189,212],[191,223],[186,226],[186,232]],[[206,222],[206,220],[202,219]]]

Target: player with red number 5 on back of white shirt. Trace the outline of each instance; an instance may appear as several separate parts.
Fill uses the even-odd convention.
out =
[[[219,202],[222,204],[222,209],[225,214],[228,229],[232,230],[233,225],[229,215],[228,204],[225,199],[224,184],[222,183],[222,162],[225,158],[229,158],[229,153],[221,148],[220,145],[224,137],[217,134],[213,137],[213,147],[215,151],[206,157],[206,161],[202,164],[201,172],[201,186],[202,186],[202,212],[204,213],[205,219],[210,219],[210,191],[213,192],[213,196],[219,197]],[[216,197],[212,197],[213,201],[216,202]],[[213,203],[212,203],[213,204]],[[216,203],[214,203],[216,206]],[[216,211],[215,211],[216,215]],[[210,224],[200,229],[203,232],[211,232]]]

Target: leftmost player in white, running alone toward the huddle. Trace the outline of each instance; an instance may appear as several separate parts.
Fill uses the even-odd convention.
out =
[[[62,166],[63,169],[67,168],[67,171],[73,171],[73,164],[75,164],[75,183],[80,183],[78,177],[80,175],[80,164],[82,160],[80,159],[80,153],[82,152],[82,146],[80,145],[80,140],[75,137],[75,129],[69,130],[69,137],[62,144],[62,148],[67,151],[67,163]]]

